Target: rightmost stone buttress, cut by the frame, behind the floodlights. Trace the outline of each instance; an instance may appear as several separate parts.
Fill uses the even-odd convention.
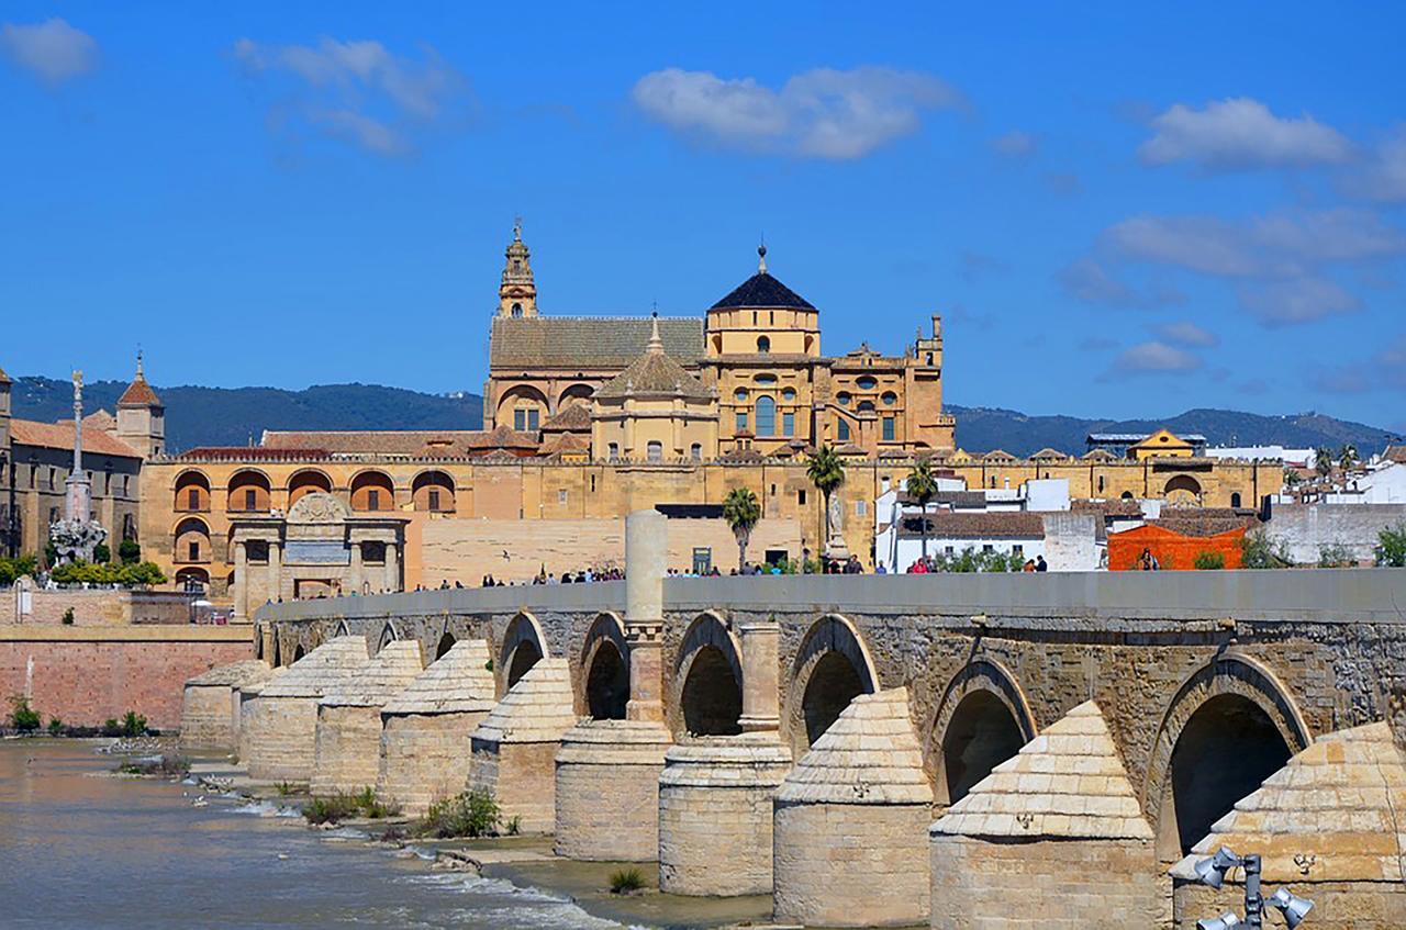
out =
[[[1240,912],[1244,875],[1220,889],[1194,867],[1219,847],[1263,857],[1263,893],[1286,885],[1313,902],[1305,926],[1406,927],[1406,754],[1386,722],[1320,736],[1211,826],[1171,868],[1177,926]]]

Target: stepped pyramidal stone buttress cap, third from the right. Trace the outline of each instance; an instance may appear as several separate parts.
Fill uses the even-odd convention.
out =
[[[908,688],[860,694],[776,790],[783,804],[932,804]]]

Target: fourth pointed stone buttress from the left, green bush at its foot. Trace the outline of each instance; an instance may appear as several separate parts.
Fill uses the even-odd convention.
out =
[[[381,767],[375,792],[422,816],[464,791],[470,736],[494,709],[488,642],[464,639],[381,708]]]

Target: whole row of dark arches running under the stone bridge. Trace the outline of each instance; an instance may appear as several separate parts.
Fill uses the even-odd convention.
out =
[[[387,624],[381,635],[396,636]],[[454,638],[440,639],[436,657]],[[547,655],[541,627],[527,613],[509,624],[496,662],[510,688]],[[696,617],[673,662],[672,694],[690,735],[741,732],[741,646],[727,622]],[[623,719],[630,697],[630,648],[613,613],[592,622],[579,653],[579,704],[595,719]],[[879,688],[862,634],[839,615],[815,621],[790,663],[783,719],[799,759],[860,694]],[[925,728],[924,750],[938,802],[952,805],[1039,735],[1015,676],[976,657],[946,684]],[[1237,801],[1253,792],[1312,736],[1272,672],[1254,659],[1222,653],[1177,690],[1159,723],[1147,763],[1142,806],[1157,833],[1157,851],[1171,861],[1211,832]]]

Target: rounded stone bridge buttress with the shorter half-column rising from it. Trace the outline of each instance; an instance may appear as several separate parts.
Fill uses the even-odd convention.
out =
[[[659,889],[675,895],[772,892],[772,795],[792,767],[780,742],[780,627],[742,625],[742,733],[690,736],[659,775]]]

